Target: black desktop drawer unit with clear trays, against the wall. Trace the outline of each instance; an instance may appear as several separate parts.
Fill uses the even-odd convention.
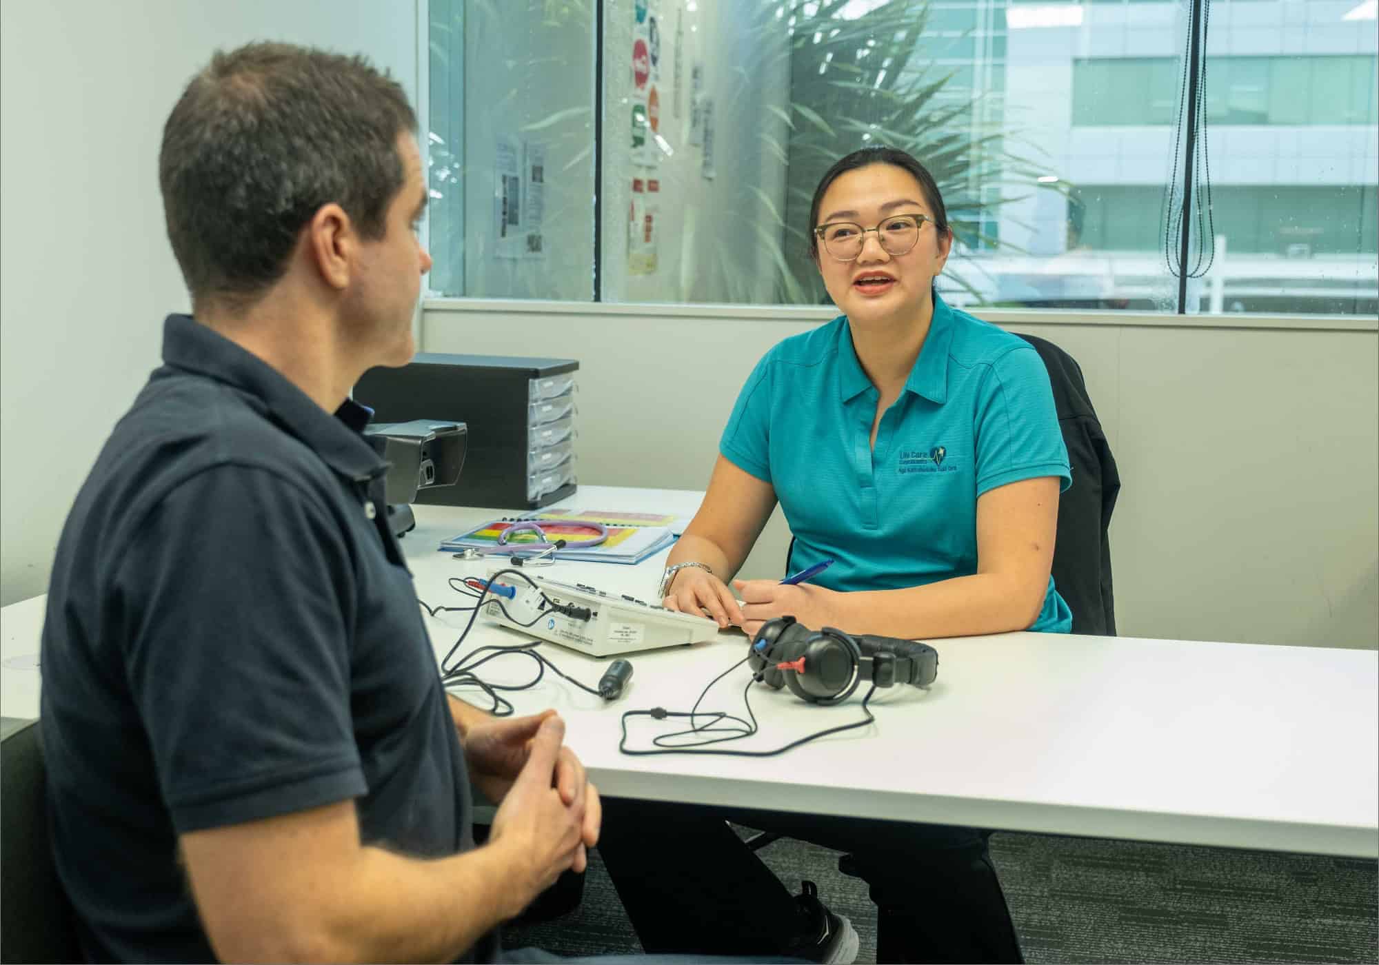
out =
[[[418,354],[372,368],[354,400],[376,422],[451,419],[469,427],[459,482],[422,489],[419,503],[538,509],[575,491],[572,358]]]

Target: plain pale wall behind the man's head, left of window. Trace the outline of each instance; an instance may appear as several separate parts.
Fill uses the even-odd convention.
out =
[[[92,459],[188,298],[163,233],[163,121],[218,47],[361,51],[415,95],[416,6],[0,6],[0,602],[43,593]]]

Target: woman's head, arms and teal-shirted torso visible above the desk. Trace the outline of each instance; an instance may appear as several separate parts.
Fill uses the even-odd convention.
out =
[[[749,634],[786,613],[910,638],[1067,633],[1049,567],[1071,477],[1048,372],[1027,342],[934,291],[953,245],[934,178],[903,152],[855,152],[825,175],[812,225],[844,314],[752,372],[670,554],[666,605]],[[735,594],[727,580],[776,500],[792,571],[834,562]]]

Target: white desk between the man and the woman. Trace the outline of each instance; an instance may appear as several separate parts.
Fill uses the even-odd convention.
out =
[[[585,509],[663,509],[688,516],[696,492],[586,487]],[[416,507],[403,540],[429,604],[462,605],[448,576],[488,564],[434,551],[490,510]],[[557,562],[539,573],[604,590],[654,593],[665,556],[637,567]],[[437,656],[462,613],[429,619]],[[4,658],[34,653],[41,598],[3,611]],[[476,623],[466,649],[523,640]],[[858,815],[979,827],[1185,844],[1379,856],[1379,653],[1124,637],[1012,633],[939,640],[935,685],[878,691],[877,722],[778,758],[627,757],[623,710],[688,710],[705,684],[746,653],[746,638],[632,655],[623,698],[605,704],[547,673],[507,695],[519,713],[552,706],[568,742],[607,794]],[[565,673],[597,682],[603,660],[543,649]],[[530,662],[485,666],[494,680],[531,676]],[[37,673],[4,669],[4,713],[37,713]],[[705,709],[741,710],[746,667]],[[481,702],[483,696],[474,696]],[[729,744],[776,747],[858,718],[859,698],[814,707],[753,689],[761,733]],[[648,746],[654,727],[630,731]]]

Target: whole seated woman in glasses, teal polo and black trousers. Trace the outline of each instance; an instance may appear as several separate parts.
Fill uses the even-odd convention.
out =
[[[843,314],[752,372],[665,604],[749,634],[785,615],[909,638],[1067,633],[1049,568],[1071,477],[1048,372],[1027,342],[938,298],[953,233],[934,178],[900,150],[848,154],[823,175],[811,227]],[[734,593],[778,500],[789,568],[833,564]],[[851,852],[877,904],[878,961],[1020,959],[982,831],[618,800],[604,815],[600,849],[647,951],[856,955],[851,924],[812,885],[792,897],[729,817]]]

